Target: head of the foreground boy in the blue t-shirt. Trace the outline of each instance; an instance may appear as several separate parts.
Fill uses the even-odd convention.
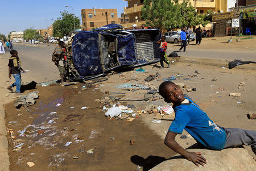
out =
[[[171,81],[164,81],[159,86],[159,94],[162,95],[164,101],[179,104],[184,101],[184,95],[179,86]]]

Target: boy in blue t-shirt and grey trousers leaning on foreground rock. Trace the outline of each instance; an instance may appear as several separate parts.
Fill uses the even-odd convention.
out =
[[[199,166],[207,164],[200,152],[188,152],[175,141],[175,136],[185,129],[198,143],[214,150],[240,145],[251,145],[256,154],[256,131],[240,128],[222,128],[213,123],[207,114],[190,98],[184,97],[180,87],[174,82],[165,81],[159,86],[159,93],[167,103],[174,103],[175,119],[172,122],[164,143]]]

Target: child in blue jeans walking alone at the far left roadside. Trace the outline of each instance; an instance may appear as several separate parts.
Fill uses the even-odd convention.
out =
[[[21,62],[18,57],[18,52],[15,50],[10,51],[11,57],[9,59],[9,78],[11,79],[11,74],[15,78],[14,84],[7,87],[8,90],[13,91],[12,87],[16,86],[16,93],[20,93],[20,86],[21,86],[21,77],[20,77],[20,70],[24,72],[24,70],[20,67]]]

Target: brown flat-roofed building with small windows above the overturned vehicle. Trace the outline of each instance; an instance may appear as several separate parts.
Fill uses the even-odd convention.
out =
[[[118,24],[117,9],[82,9],[82,26],[84,30],[92,30],[106,24]]]

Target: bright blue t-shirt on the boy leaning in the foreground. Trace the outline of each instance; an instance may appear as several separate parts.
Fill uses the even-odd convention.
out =
[[[174,107],[175,119],[169,128],[177,134],[185,129],[197,142],[210,149],[221,150],[226,143],[226,132],[213,123],[207,114],[189,98],[189,104]]]

